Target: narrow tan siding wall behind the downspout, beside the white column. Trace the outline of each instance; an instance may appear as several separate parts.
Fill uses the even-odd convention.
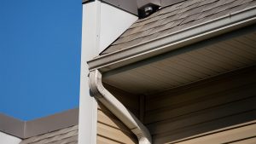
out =
[[[137,96],[116,89],[108,84],[104,84],[104,86],[116,96],[125,107],[138,115],[139,102]],[[119,120],[119,118],[116,118],[113,113],[100,102],[98,102],[97,119],[97,144],[137,144],[136,135],[134,135],[131,130]]]

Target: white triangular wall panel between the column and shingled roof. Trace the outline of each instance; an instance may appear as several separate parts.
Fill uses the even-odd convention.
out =
[[[137,16],[108,3],[101,3],[100,53],[108,48],[136,20]]]

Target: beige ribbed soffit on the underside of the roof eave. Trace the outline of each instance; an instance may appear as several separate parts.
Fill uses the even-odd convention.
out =
[[[103,82],[136,94],[149,94],[256,65],[256,32],[226,34],[139,61],[103,75]],[[243,31],[244,32],[244,31]]]

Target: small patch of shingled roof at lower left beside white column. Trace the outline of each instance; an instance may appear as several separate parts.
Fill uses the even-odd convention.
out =
[[[25,139],[20,144],[77,144],[79,125]]]

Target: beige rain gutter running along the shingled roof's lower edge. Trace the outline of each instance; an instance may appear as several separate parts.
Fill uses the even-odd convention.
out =
[[[108,55],[100,55],[93,60],[89,60],[87,63],[90,71],[98,69],[101,72],[108,72],[120,66],[129,65],[138,60],[148,59],[155,55],[179,49],[255,22],[256,7],[254,6],[178,32],[173,32],[164,37],[137,44],[127,49],[120,49]]]

